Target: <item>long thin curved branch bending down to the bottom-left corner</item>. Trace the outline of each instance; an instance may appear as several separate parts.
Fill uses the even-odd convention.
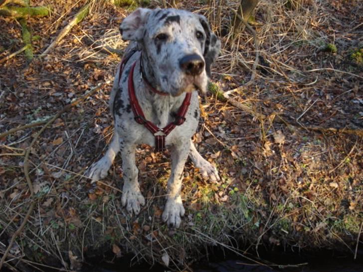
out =
[[[7,254],[9,253],[12,244],[14,243],[16,237],[21,233],[21,231],[23,230],[23,228],[26,225],[26,222],[28,221],[30,214],[33,212],[34,206],[35,206],[35,202],[33,199],[34,196],[34,190],[33,190],[33,184],[30,180],[29,177],[29,154],[30,154],[30,149],[33,146],[33,144],[36,142],[37,138],[40,136],[40,134],[46,129],[46,127],[48,127],[51,123],[54,122],[54,120],[56,120],[59,116],[61,116],[62,113],[68,111],[70,108],[74,107],[75,105],[77,105],[79,102],[85,100],[86,98],[88,98],[89,96],[91,96],[92,94],[94,94],[95,92],[99,91],[101,88],[95,88],[92,91],[90,91],[89,93],[85,94],[84,96],[80,97],[79,99],[75,100],[74,102],[72,102],[71,104],[68,104],[67,106],[65,106],[62,110],[60,110],[57,114],[55,114],[41,129],[40,131],[34,136],[33,140],[31,141],[31,143],[29,144],[29,146],[26,149],[26,153],[25,153],[25,157],[24,157],[24,175],[25,175],[25,179],[26,182],[28,184],[29,187],[29,191],[30,191],[30,206],[28,209],[28,212],[26,213],[24,220],[22,221],[21,225],[19,226],[19,228],[15,231],[15,233],[12,235],[11,240],[9,245],[7,246],[4,255],[1,258],[0,261],[0,271],[2,268],[2,265],[5,262],[5,259],[7,257]]]

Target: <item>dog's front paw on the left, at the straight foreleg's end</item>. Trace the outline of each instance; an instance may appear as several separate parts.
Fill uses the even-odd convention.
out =
[[[124,184],[121,197],[122,206],[126,206],[126,210],[132,214],[139,214],[140,206],[145,205],[145,198],[141,194],[139,186],[130,186]]]

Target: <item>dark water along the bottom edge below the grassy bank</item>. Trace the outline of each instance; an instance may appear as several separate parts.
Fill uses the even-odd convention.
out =
[[[223,256],[223,257],[221,257]],[[214,261],[211,261],[214,260]],[[298,253],[265,253],[261,256],[261,263],[269,265],[251,264],[243,258],[217,252],[215,256],[209,256],[209,261],[201,261],[194,264],[193,272],[363,272],[363,252],[360,252],[357,260],[352,255],[342,255],[334,252],[318,252],[315,254]],[[166,272],[170,271],[161,265],[139,264],[130,268],[129,257],[116,260],[113,264],[102,262],[96,266],[85,268],[84,272]],[[307,263],[306,265],[301,265]],[[300,265],[299,265],[300,264]]]

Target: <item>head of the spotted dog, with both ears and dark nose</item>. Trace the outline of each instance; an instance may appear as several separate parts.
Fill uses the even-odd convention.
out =
[[[120,25],[124,40],[137,41],[157,88],[172,96],[206,91],[220,41],[204,16],[173,8],[138,8]]]

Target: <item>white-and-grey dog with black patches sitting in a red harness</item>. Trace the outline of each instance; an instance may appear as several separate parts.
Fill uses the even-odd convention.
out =
[[[199,121],[198,91],[205,93],[220,41],[206,18],[173,8],[138,8],[120,25],[130,43],[116,71],[110,96],[114,136],[106,154],[88,170],[95,182],[106,177],[121,151],[124,185],[121,202],[131,214],[145,205],[135,164],[137,144],[169,148],[172,171],[162,219],[180,227],[183,168],[189,155],[204,178],[218,181],[216,168],[196,150],[191,137]]]

